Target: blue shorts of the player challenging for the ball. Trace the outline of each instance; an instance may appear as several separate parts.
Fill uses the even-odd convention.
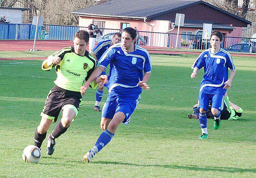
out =
[[[123,121],[124,124],[128,124],[130,122],[130,117],[138,106],[140,100],[140,95],[136,97],[121,97],[113,94],[108,94],[107,101],[105,102],[102,108],[101,117],[105,117],[108,119],[113,119],[114,115],[117,112],[123,112],[125,115],[125,119]]]

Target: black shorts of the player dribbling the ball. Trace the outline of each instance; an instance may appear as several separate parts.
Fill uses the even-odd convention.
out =
[[[41,116],[56,122],[60,111],[65,105],[73,105],[73,108],[77,109],[77,115],[79,108],[82,106],[81,99],[80,92],[65,90],[55,85],[47,96]]]

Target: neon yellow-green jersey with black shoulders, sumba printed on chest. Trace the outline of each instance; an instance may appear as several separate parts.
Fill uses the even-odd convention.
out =
[[[63,48],[53,53],[52,56],[60,57],[60,63],[44,69],[43,66],[47,63],[47,60],[44,60],[42,69],[49,71],[52,67],[55,67],[57,78],[54,83],[65,90],[80,92],[80,87],[96,68],[94,57],[87,50],[84,56],[79,56],[75,53],[73,47]],[[93,81],[90,86],[95,89],[97,85],[94,85]]]

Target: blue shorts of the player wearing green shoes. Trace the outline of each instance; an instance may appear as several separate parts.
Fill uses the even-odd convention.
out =
[[[203,108],[207,111],[209,102],[211,101],[212,108],[216,108],[221,111],[224,108],[224,95],[223,94],[206,94],[199,92],[198,96],[198,108]]]

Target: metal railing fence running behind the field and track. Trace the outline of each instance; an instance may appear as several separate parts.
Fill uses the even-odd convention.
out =
[[[78,30],[88,30],[83,26],[48,25],[39,26],[37,39],[41,40],[73,40]],[[29,40],[35,37],[36,26],[32,24],[0,24],[0,39]],[[96,42],[112,39],[114,33],[121,29],[102,29],[102,35],[97,34]],[[141,46],[175,48],[176,33],[157,33],[139,31],[137,43]],[[210,41],[202,39],[202,35],[179,34],[177,48],[206,49]],[[222,48],[236,52],[256,52],[256,38],[224,36]]]

